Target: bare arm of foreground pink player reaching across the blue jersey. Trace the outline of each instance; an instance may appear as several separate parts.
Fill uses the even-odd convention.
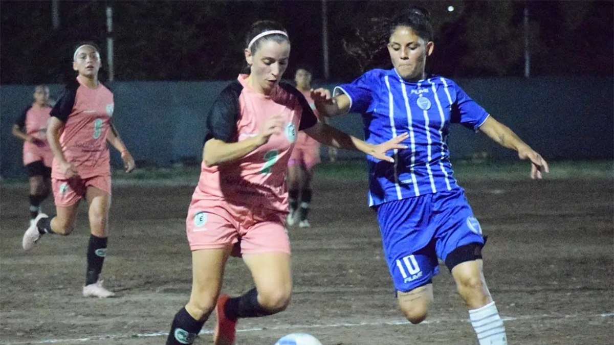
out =
[[[387,156],[386,153],[390,150],[407,149],[407,146],[401,144],[401,142],[409,138],[409,134],[403,133],[382,144],[373,145],[347,133],[343,133],[335,127],[323,122],[317,122],[316,125],[307,128],[305,133],[322,144],[338,147],[340,149],[364,152],[379,160],[389,161],[391,163],[394,163],[394,158]]]

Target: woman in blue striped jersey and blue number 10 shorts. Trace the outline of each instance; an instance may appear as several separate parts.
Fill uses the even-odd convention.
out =
[[[336,87],[333,98],[327,90],[318,89],[313,92],[314,102],[328,116],[362,114],[365,140],[370,144],[410,134],[403,142],[408,149],[395,150],[395,163],[367,158],[369,206],[378,214],[384,254],[406,318],[413,324],[426,318],[433,300],[432,277],[441,258],[470,309],[480,345],[507,344],[503,322],[484,281],[480,223],[449,161],[449,126],[461,123],[516,150],[519,158],[531,161],[534,179],[548,172],[548,165],[453,80],[427,76],[425,63],[434,44],[426,10],[413,8],[385,26],[394,68],[372,69]],[[351,45],[346,47],[352,53]]]

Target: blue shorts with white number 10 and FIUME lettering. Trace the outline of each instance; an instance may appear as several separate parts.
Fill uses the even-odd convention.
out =
[[[462,188],[377,207],[388,269],[397,291],[428,284],[439,272],[438,260],[465,244],[484,244],[480,223]]]

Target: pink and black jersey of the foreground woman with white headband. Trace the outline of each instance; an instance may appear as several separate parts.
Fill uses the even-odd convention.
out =
[[[266,118],[282,114],[284,131],[240,160],[219,166],[201,165],[193,200],[211,200],[249,207],[258,212],[287,212],[287,163],[297,131],[317,123],[300,91],[287,83],[271,95],[252,90],[247,75],[228,85],[218,96],[205,123],[205,141],[238,142],[255,136]]]

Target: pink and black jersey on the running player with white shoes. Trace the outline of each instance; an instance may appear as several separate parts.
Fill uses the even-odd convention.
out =
[[[60,136],[64,157],[75,166],[82,179],[111,174],[106,139],[113,108],[113,93],[103,84],[91,89],[74,80],[66,85],[63,95],[51,110],[53,117],[64,122]],[[55,159],[52,177],[65,178]]]

